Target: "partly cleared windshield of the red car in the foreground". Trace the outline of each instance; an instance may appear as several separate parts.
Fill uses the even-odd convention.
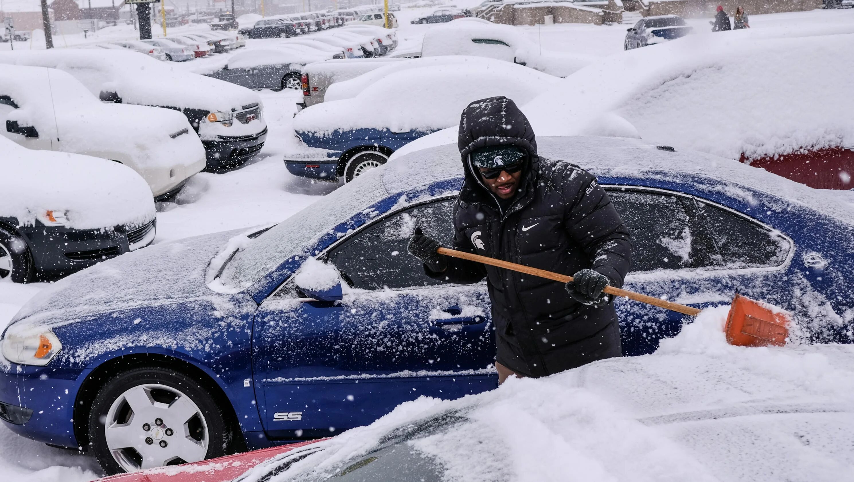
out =
[[[406,473],[413,480],[440,482],[446,479],[445,467],[436,456],[418,449],[418,441],[441,435],[465,424],[464,410],[448,410],[420,421],[407,423],[385,433],[371,449],[357,452],[330,463],[337,454],[334,448],[324,450],[308,445],[286,456],[255,467],[233,482],[299,481],[393,482]]]

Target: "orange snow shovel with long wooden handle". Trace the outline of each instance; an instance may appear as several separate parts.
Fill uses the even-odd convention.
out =
[[[488,258],[479,254],[466,253],[465,251],[457,251],[440,247],[439,254],[451,256],[453,258],[468,259],[476,263],[490,264],[506,270],[518,271],[527,275],[540,276],[548,280],[556,282],[571,282],[572,276],[560,275],[552,271],[540,270],[539,268],[531,268],[524,264],[510,263],[500,259]],[[623,298],[634,299],[647,305],[658,306],[665,310],[676,311],[684,315],[697,316],[699,310],[692,306],[680,305],[665,299],[647,296],[646,294],[635,293],[633,291],[620,289],[618,287],[605,287],[605,293]],[[767,305],[760,301],[746,298],[736,293],[733,299],[733,304],[729,308],[727,316],[727,325],[725,328],[727,341],[730,345],[735,346],[783,346],[786,345],[786,338],[789,334],[788,325],[791,322],[791,315],[787,311],[782,311],[774,306]]]

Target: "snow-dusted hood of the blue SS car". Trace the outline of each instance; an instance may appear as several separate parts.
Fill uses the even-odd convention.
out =
[[[54,283],[21,307],[9,323],[15,334],[57,328],[109,311],[225,299],[205,284],[211,258],[242,230],[146,247],[109,259]]]

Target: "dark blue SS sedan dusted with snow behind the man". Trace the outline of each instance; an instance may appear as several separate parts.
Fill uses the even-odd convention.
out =
[[[708,154],[543,137],[593,171],[632,230],[626,287],[694,306],[738,292],[793,311],[793,342],[851,342],[854,209]],[[0,417],[109,472],[321,438],[425,395],[490,390],[484,283],[441,284],[407,253],[451,239],[453,145],[367,172],[282,223],[124,254],[39,293],[3,334]],[[539,266],[549,268],[548,266]],[[625,355],[680,331],[617,300]]]

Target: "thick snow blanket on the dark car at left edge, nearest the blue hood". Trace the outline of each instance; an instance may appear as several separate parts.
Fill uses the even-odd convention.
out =
[[[67,212],[74,229],[138,226],[155,218],[151,189],[127,166],[93,157],[22,148],[0,136],[0,217],[35,224]]]

